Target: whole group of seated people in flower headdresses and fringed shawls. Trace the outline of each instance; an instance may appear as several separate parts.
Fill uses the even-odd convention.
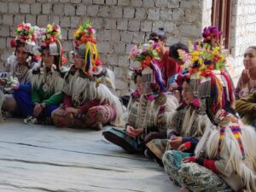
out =
[[[256,191],[255,46],[245,51],[235,89],[217,27],[206,27],[194,44],[170,48],[163,29],[152,32],[131,48],[139,67],[130,69],[136,89],[125,106],[113,72],[102,67],[90,20],[74,32],[69,67],[60,26],[22,23],[15,32],[15,53],[0,75],[5,115],[97,131],[113,125],[103,137],[164,166],[182,191]]]

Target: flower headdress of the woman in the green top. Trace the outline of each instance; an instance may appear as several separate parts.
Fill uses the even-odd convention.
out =
[[[67,59],[63,56],[63,49],[61,45],[61,27],[55,24],[48,24],[46,28],[41,28],[41,42],[42,47],[49,47],[49,55],[60,56],[59,68],[62,67],[62,63]]]

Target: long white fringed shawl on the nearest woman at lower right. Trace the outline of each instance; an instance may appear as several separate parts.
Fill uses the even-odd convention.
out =
[[[242,160],[241,149],[229,125],[226,125],[224,138],[221,143],[221,161],[218,159],[218,137],[219,128],[212,129],[212,123],[207,123],[207,130],[195,148],[195,156],[199,156],[201,149],[206,147],[207,158],[215,159],[218,162],[216,166],[224,167],[224,170],[218,170],[226,177],[230,177],[232,172],[241,177],[247,191],[256,191],[256,133],[251,126],[241,125],[241,143],[243,144],[246,158]],[[225,158],[224,158],[225,157]],[[236,181],[234,181],[236,182]]]

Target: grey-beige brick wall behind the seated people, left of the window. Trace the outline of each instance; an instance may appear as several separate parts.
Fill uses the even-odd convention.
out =
[[[130,87],[128,60],[132,44],[147,41],[149,33],[163,26],[168,41],[187,43],[201,37],[202,18],[209,23],[209,2],[203,0],[0,0],[0,67],[13,51],[9,47],[15,26],[61,26],[64,51],[73,49],[73,29],[85,19],[96,26],[102,62],[116,75],[119,95]],[[210,6],[211,7],[211,6]],[[204,10],[204,12],[202,11]]]

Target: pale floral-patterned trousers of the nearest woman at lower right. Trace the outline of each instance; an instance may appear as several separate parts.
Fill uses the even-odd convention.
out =
[[[174,165],[172,151],[163,156],[168,176],[178,185],[193,192],[232,192],[230,186],[211,170],[196,163],[183,163],[180,169]]]

